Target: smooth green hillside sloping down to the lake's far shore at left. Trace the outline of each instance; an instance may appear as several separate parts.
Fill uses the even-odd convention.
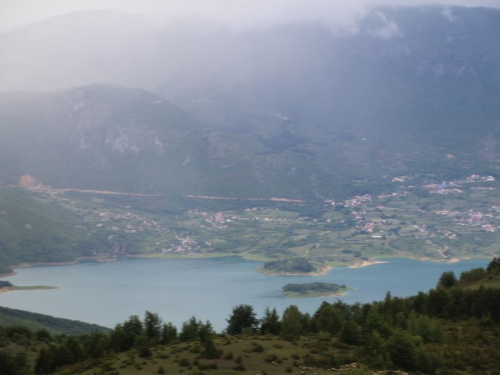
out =
[[[108,252],[102,236],[70,209],[27,191],[0,187],[0,274],[27,262],[68,262]]]

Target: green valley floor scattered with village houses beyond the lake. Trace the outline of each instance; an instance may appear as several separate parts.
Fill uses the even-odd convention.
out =
[[[310,264],[308,273],[379,258],[453,262],[498,255],[500,191],[494,177],[471,175],[439,183],[424,176],[388,180],[391,189],[377,195],[316,202],[222,199],[217,208],[223,211],[186,197],[191,207],[199,208],[176,213],[161,211],[169,201],[158,196],[129,194],[110,200],[99,191],[30,191],[78,215],[88,234],[102,238],[107,254],[115,257],[300,258]],[[263,271],[273,273],[269,267]]]

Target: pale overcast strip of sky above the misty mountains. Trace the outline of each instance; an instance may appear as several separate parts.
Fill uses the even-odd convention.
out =
[[[90,9],[115,9],[157,20],[209,18],[235,27],[309,19],[348,27],[370,6],[436,2],[500,8],[500,0],[0,0],[0,32],[51,16]]]

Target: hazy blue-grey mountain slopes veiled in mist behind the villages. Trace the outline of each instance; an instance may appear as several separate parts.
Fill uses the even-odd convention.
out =
[[[53,17],[0,35],[2,174],[321,199],[407,172],[495,174],[499,34],[497,9],[442,6],[378,8],[352,32]]]

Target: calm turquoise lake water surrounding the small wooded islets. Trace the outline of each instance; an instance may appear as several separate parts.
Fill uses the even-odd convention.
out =
[[[285,299],[281,288],[289,282],[333,282],[356,288],[345,296],[327,298],[371,302],[409,296],[436,285],[444,271],[484,267],[486,260],[457,263],[390,259],[364,268],[334,268],[324,276],[269,276],[255,272],[259,262],[240,258],[124,259],[111,263],[80,263],[60,267],[18,269],[6,278],[13,284],[51,285],[57,290],[0,294],[0,305],[112,327],[132,314],[157,312],[178,327],[191,316],[210,320],[216,330],[225,327],[233,306],[251,304],[258,316],[265,307],[281,313],[295,304],[313,313],[325,298]]]

